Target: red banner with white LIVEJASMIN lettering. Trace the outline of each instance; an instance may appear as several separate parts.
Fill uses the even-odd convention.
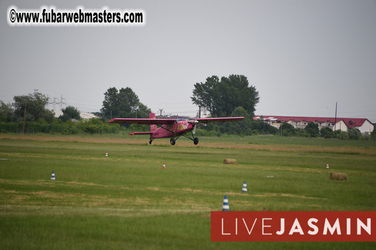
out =
[[[376,241],[376,211],[212,211],[211,241]]]

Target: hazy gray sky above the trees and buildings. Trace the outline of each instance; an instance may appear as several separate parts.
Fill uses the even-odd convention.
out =
[[[10,5],[143,9],[146,25],[10,27]],[[130,87],[154,112],[193,116],[196,82],[239,74],[259,91],[256,115],[334,117],[338,102],[337,117],[376,122],[375,0],[13,0],[0,13],[4,102],[39,89],[94,112]]]

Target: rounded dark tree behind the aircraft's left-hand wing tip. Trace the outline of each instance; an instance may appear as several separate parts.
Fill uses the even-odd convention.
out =
[[[100,111],[106,114],[106,117],[109,117],[112,112],[112,117],[127,118],[131,117],[130,113],[136,111],[138,104],[138,96],[131,88],[121,88],[118,91],[117,88],[112,87],[106,91]]]

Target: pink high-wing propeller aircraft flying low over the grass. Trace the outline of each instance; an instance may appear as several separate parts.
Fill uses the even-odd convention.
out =
[[[199,138],[194,137],[197,125],[207,123],[221,123],[224,121],[240,121],[244,117],[222,117],[222,118],[197,118],[194,120],[186,119],[156,119],[155,113],[149,114],[149,119],[132,119],[132,118],[112,118],[108,123],[136,123],[150,125],[150,132],[132,132],[129,135],[150,135],[149,144],[156,138],[171,138],[171,145],[175,145],[175,141],[184,136],[191,139],[194,145],[199,143]],[[191,132],[192,138],[187,135]]]

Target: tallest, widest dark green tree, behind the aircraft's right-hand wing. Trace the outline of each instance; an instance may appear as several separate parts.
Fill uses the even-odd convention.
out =
[[[258,91],[249,86],[244,75],[230,75],[206,78],[205,83],[197,82],[194,85],[191,100],[194,104],[210,111],[213,117],[229,116],[236,107],[243,107],[253,117],[255,106],[259,102]]]

